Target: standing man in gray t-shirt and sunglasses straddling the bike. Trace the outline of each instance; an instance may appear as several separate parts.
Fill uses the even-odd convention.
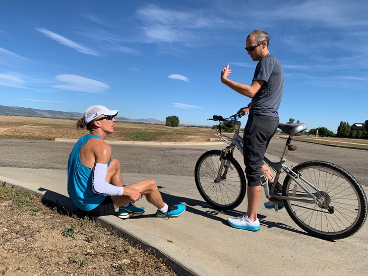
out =
[[[255,30],[248,35],[246,51],[253,61],[258,61],[251,85],[237,83],[228,79],[229,65],[221,71],[221,82],[232,90],[252,99],[252,102],[238,112],[249,113],[244,128],[244,164],[248,180],[248,211],[236,219],[229,218],[230,226],[257,231],[260,222],[257,218],[258,203],[261,198],[261,174],[270,169],[263,165],[268,144],[279,124],[278,108],[284,89],[284,72],[278,59],[269,50],[270,38],[265,31]],[[266,176],[268,176],[266,174]],[[273,176],[268,176],[272,182]]]

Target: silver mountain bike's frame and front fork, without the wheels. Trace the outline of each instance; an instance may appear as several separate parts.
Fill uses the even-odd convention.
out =
[[[239,135],[241,122],[237,120],[236,114],[231,116],[231,117],[233,117],[233,119],[231,119],[229,121],[227,120],[227,122],[229,122],[231,124],[236,124],[236,128],[235,128],[234,135],[233,135],[232,138],[230,138],[228,136],[225,136],[225,135],[222,135],[220,133],[220,135],[225,136],[227,138],[230,138],[231,143],[230,143],[229,146],[227,146],[222,151],[220,168],[224,168],[224,171],[222,172],[222,170],[219,170],[217,178],[215,179],[216,183],[220,182],[222,179],[226,178],[226,174],[227,174],[227,170],[228,170],[228,167],[225,165],[226,157],[228,155],[232,156],[235,148],[239,150],[241,155],[244,155],[244,149],[243,149],[243,145],[242,145],[243,138]],[[279,162],[272,162],[267,157],[263,158],[264,163],[267,164],[270,168],[272,168],[276,172],[275,180],[274,180],[274,182],[273,182],[270,189],[268,188],[268,179],[267,179],[267,177],[265,175],[263,175],[263,177],[262,177],[263,178],[262,186],[265,189],[266,197],[268,199],[272,197],[274,199],[280,199],[280,200],[293,200],[293,201],[299,201],[299,202],[305,202],[305,203],[316,203],[316,204],[318,204],[320,202],[320,200],[314,194],[312,194],[308,189],[306,189],[305,186],[303,185],[303,183],[305,183],[306,185],[312,187],[317,192],[318,192],[318,189],[312,183],[310,183],[308,180],[303,178],[301,174],[294,173],[292,171],[291,166],[288,167],[288,166],[284,165],[284,163],[287,161],[287,159],[286,159],[287,151],[288,150],[296,150],[296,147],[290,145],[291,140],[292,140],[292,136],[289,135],[289,137],[286,141],[286,145],[285,145],[283,154],[282,154]],[[298,195],[292,194],[292,195],[289,195],[289,196],[283,196],[283,195],[280,195],[278,193],[275,193],[274,191],[275,191],[276,185],[278,183],[278,179],[279,179],[282,172],[285,172],[291,179],[293,179],[295,181],[295,183],[298,186],[300,186],[300,188],[303,189],[306,192],[306,194],[305,195],[303,195],[303,194],[298,194]],[[300,179],[303,183],[298,181],[298,179]],[[306,197],[312,198],[312,199],[306,199]],[[277,208],[277,204],[275,204],[275,208]]]

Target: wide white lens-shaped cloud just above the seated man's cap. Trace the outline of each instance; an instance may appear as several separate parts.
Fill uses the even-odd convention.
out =
[[[87,93],[103,93],[110,87],[107,84],[99,81],[84,78],[78,75],[63,74],[55,76],[55,79],[66,84],[53,85],[54,88],[70,90],[70,91],[81,91]]]

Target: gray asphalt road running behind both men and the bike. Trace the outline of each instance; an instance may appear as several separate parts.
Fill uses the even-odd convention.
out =
[[[284,139],[274,137],[268,154],[281,156]],[[66,142],[0,139],[0,167],[67,169],[69,153],[74,144]],[[366,168],[368,151],[293,142],[294,152],[287,159],[295,163],[323,160],[349,171],[360,184],[368,186]],[[221,145],[200,146],[138,146],[111,145],[113,158],[120,161],[122,173],[194,176],[198,157],[206,149],[222,149]],[[238,160],[242,164],[242,160]]]

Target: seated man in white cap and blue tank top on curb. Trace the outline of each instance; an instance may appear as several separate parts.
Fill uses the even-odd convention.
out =
[[[178,217],[185,212],[183,204],[166,204],[153,179],[145,179],[123,187],[120,163],[111,159],[111,147],[104,141],[114,131],[117,110],[101,105],[87,108],[77,127],[90,131],[74,146],[68,161],[68,194],[78,211],[88,216],[114,215],[126,219],[140,216],[144,208],[133,203],[142,195],[157,207],[157,217]]]

